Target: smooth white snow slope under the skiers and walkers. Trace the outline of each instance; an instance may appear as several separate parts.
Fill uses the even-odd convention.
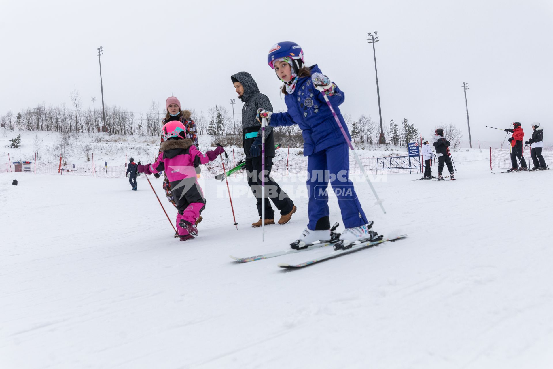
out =
[[[228,255],[288,248],[307,223],[304,198],[262,243],[254,199],[233,198],[237,231],[217,198],[226,184],[203,180],[200,235],[180,242],[143,176],[131,191],[127,179],[18,173],[12,186],[0,174],[0,367],[550,367],[553,173],[457,168],[453,183],[375,182],[387,215],[356,183],[374,229],[408,237],[295,271],[276,264],[331,247]]]

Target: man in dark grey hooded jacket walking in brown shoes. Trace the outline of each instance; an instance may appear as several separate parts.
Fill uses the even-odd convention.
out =
[[[242,107],[242,138],[244,139],[244,154],[246,154],[246,173],[248,176],[248,185],[257,198],[257,212],[259,221],[252,224],[252,227],[260,227],[261,219],[261,183],[262,178],[259,175],[262,172],[261,164],[261,124],[257,121],[257,110],[263,108],[267,111],[273,111],[269,98],[259,92],[259,88],[253,77],[248,72],[238,72],[231,76],[234,89],[238,97],[244,103]],[[273,201],[276,209],[280,211],[279,224],[288,223],[292,214],[296,212],[294,202],[289,196],[280,189],[269,174],[273,167],[273,158],[275,156],[275,144],[273,137],[273,127],[265,127],[265,196]],[[274,210],[270,205],[269,199],[265,198],[265,225],[274,224]]]

